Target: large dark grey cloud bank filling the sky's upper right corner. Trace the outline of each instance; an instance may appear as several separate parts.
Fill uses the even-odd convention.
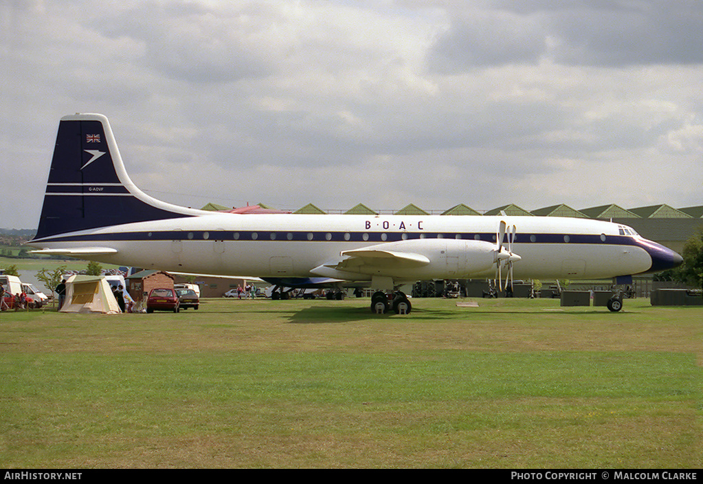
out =
[[[603,67],[703,63],[699,1],[501,0],[493,6],[498,10],[454,13],[430,53],[431,70],[535,63],[543,56]]]

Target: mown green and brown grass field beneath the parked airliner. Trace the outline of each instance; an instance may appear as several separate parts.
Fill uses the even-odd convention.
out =
[[[0,466],[700,468],[703,308],[0,314]]]

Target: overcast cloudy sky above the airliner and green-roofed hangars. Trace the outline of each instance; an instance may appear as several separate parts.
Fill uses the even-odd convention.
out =
[[[0,227],[61,116],[180,205],[703,203],[699,0],[0,0]]]

